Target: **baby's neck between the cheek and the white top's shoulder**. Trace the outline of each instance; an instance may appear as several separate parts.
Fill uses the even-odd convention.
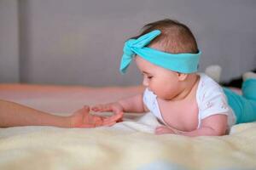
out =
[[[197,82],[199,82],[199,76],[197,74],[189,75],[187,80],[182,83],[180,93],[177,94],[172,101],[189,98],[191,92],[193,92],[193,90],[197,87]]]

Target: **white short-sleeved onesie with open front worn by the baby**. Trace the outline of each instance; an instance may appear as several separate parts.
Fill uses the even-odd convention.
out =
[[[228,128],[230,128],[236,123],[236,116],[234,111],[227,104],[223,89],[217,82],[214,82],[212,78],[207,77],[207,75],[203,73],[199,73],[198,75],[200,76],[200,81],[196,90],[196,102],[199,110],[197,128],[201,127],[201,120],[207,116],[216,114],[227,115]],[[152,91],[148,90],[148,88],[144,91],[143,103],[154,116],[166,124],[160,112],[157,96]]]

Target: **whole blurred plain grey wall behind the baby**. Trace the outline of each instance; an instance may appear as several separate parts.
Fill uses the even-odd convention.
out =
[[[125,76],[119,74],[123,44],[143,25],[165,18],[179,20],[195,33],[203,52],[201,71],[218,64],[224,70],[222,80],[229,80],[256,67],[253,0],[0,2],[0,82],[89,86],[141,83],[134,64]]]

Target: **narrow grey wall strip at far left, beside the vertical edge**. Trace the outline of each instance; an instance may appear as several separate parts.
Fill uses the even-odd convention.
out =
[[[19,82],[18,3],[0,0],[0,82]]]

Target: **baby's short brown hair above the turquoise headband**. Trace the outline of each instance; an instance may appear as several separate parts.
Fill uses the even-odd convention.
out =
[[[195,37],[189,27],[179,23],[177,20],[166,19],[149,23],[146,26],[143,26],[142,33],[137,37],[141,37],[154,30],[160,30],[161,34],[150,42],[148,47],[159,43],[161,46],[160,50],[166,53],[197,54],[199,52]]]

